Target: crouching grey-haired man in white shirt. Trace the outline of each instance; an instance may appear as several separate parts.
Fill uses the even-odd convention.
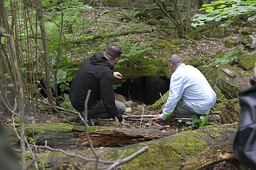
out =
[[[155,115],[155,119],[208,114],[215,105],[216,94],[202,72],[183,64],[179,55],[172,55],[168,62],[173,71],[169,96],[162,114]]]

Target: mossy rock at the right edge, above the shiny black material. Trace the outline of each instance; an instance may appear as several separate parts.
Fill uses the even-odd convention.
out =
[[[253,69],[255,63],[256,63],[256,55],[253,55],[253,56],[245,55],[239,60],[238,67],[240,67],[244,71],[250,71],[251,69]]]

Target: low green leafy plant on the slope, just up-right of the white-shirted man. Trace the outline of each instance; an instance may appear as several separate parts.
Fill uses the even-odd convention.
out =
[[[229,62],[233,62],[235,59],[237,59],[237,54],[239,52],[240,52],[239,49],[232,50],[232,51],[226,53],[226,55],[224,55],[222,58],[217,58],[214,62],[212,62],[208,65],[204,65],[203,67],[209,67],[209,66],[219,67],[220,65],[228,64]]]

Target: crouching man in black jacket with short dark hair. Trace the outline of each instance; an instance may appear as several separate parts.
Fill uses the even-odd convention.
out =
[[[122,78],[119,72],[113,72],[113,65],[119,60],[122,50],[116,44],[110,44],[104,53],[95,53],[86,58],[72,81],[70,100],[75,110],[84,112],[84,102],[88,100],[88,126],[94,126],[92,119],[115,118],[124,124],[122,117],[126,106],[115,100],[113,78]]]

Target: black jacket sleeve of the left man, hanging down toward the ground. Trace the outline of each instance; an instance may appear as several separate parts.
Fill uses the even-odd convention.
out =
[[[113,115],[113,117],[117,117],[120,122],[123,121],[122,115],[119,116],[117,106],[115,106],[115,95],[113,92],[113,72],[103,72],[99,78],[99,84],[101,90],[101,100],[103,101],[106,111]]]

